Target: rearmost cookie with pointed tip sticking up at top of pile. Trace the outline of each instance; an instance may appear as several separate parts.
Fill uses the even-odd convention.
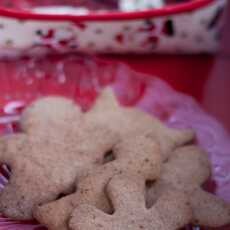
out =
[[[145,133],[160,143],[164,159],[167,159],[173,149],[194,138],[194,131],[191,129],[171,129],[140,109],[121,106],[112,90],[108,88],[101,93],[86,116],[90,123],[106,125],[121,138],[130,133]]]

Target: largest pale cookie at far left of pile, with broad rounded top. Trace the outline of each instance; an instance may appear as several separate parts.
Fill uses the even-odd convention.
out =
[[[62,97],[35,101],[20,124],[21,133],[0,138],[0,161],[12,170],[0,212],[14,219],[30,219],[38,204],[72,192],[117,140],[107,127],[88,125],[79,107]]]

